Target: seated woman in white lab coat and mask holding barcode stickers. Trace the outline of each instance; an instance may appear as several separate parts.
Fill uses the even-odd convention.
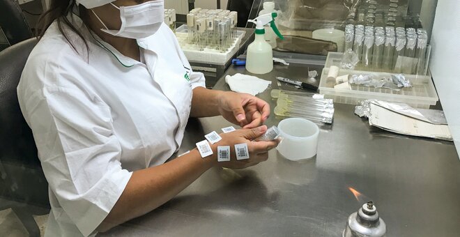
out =
[[[45,236],[91,236],[164,204],[211,167],[266,160],[275,142],[252,142],[268,104],[211,91],[192,72],[163,20],[163,1],[53,0],[17,87],[49,183]],[[222,134],[201,158],[181,146],[189,116],[246,129]],[[200,142],[200,141],[197,141]],[[250,159],[237,161],[234,144]],[[217,146],[231,161],[217,162]],[[166,162],[166,163],[165,163]]]

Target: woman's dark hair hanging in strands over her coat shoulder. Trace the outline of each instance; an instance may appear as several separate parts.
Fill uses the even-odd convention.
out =
[[[69,39],[68,34],[64,31],[63,26],[66,25],[72,31],[77,33],[79,38],[82,38],[84,44],[86,45],[86,49],[89,49],[88,43],[86,42],[85,38],[83,37],[82,33],[78,31],[75,26],[72,25],[70,20],[68,19],[68,14],[72,12],[72,9],[75,7],[75,0],[51,0],[49,4],[49,10],[45,11],[40,18],[38,19],[37,23],[37,33],[36,37],[40,40],[43,35],[45,35],[46,30],[48,27],[54,22],[57,22],[59,31],[62,33],[64,38],[68,41],[68,43],[72,46],[75,51],[75,45],[73,45],[72,41]],[[82,5],[79,6],[80,12],[86,10]]]

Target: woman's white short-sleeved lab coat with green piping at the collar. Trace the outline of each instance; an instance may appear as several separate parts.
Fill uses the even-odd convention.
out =
[[[174,33],[163,24],[138,40],[141,63],[84,29],[89,52],[56,23],[31,52],[17,87],[49,182],[52,211],[45,236],[89,236],[105,219],[132,171],[164,163],[181,145],[192,72]],[[77,53],[79,52],[79,53]]]

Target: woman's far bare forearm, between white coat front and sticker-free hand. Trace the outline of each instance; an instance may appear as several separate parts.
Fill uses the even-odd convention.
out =
[[[223,91],[213,91],[204,87],[193,89],[190,116],[195,118],[217,116],[219,96]]]

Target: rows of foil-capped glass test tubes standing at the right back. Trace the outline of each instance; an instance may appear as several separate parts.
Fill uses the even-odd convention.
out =
[[[345,26],[345,52],[358,55],[358,70],[426,75],[427,39],[425,29]]]

